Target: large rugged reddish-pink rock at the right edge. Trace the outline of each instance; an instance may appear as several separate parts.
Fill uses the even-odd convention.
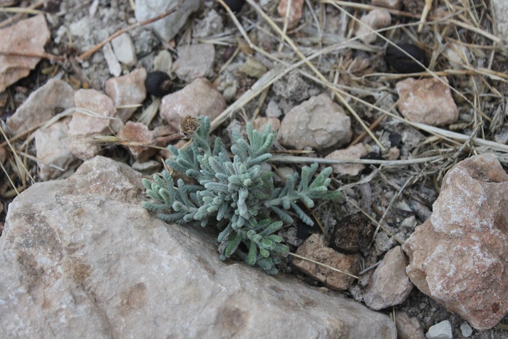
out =
[[[430,219],[403,244],[409,278],[477,330],[508,313],[508,175],[494,155],[459,162]]]

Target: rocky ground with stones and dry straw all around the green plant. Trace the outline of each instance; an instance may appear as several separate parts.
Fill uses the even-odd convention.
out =
[[[0,0],[4,333],[68,334],[55,313],[113,337],[391,338],[389,315],[399,338],[507,337],[504,1],[186,0],[144,25],[177,2]],[[275,278],[224,264],[206,232],[141,209],[141,174],[185,115],[227,146],[271,125],[276,181],[333,166],[344,197],[279,235],[350,276],[296,256]]]

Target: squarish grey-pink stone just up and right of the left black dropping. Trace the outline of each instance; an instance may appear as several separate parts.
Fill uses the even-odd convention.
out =
[[[178,50],[173,68],[178,78],[190,83],[197,78],[214,75],[214,58],[215,48],[212,43],[187,45]]]

